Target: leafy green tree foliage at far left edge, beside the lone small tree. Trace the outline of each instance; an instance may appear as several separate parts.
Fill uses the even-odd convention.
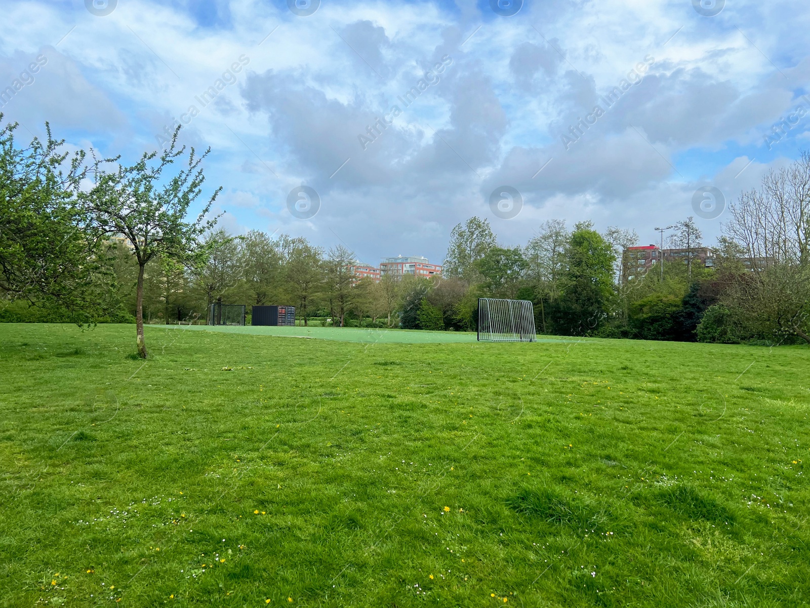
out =
[[[84,152],[65,151],[47,123],[45,141],[27,147],[17,145],[16,129],[0,129],[0,293],[92,321],[114,289],[107,247],[79,204],[93,167]]]

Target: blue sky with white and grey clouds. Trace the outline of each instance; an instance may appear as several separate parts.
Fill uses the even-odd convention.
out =
[[[686,216],[711,243],[723,199],[810,147],[807,0],[0,0],[0,13],[0,112],[20,137],[49,121],[71,146],[132,161],[182,122],[183,143],[211,148],[226,229],[343,242],[369,263],[441,262],[474,215],[505,246],[552,218],[646,244]]]

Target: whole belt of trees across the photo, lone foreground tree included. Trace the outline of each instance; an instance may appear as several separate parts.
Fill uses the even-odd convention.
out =
[[[623,253],[637,244],[633,231],[554,220],[509,247],[472,217],[450,235],[444,276],[375,283],[352,275],[344,246],[217,229],[209,212],[219,189],[189,219],[207,152],[178,149],[177,133],[166,151],[126,166],[64,152],[50,131],[19,147],[15,128],[0,130],[0,319],[9,302],[54,320],[134,318],[146,357],[144,319],[204,319],[212,302],[291,304],[304,323],[470,331],[477,299],[492,297],[531,300],[546,333],[810,341],[807,154],[730,206],[710,268],[697,263],[702,236],[691,217],[669,238],[684,255],[646,273]]]

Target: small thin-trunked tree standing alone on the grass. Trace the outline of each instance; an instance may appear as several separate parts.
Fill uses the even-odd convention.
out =
[[[197,266],[206,255],[199,238],[211,229],[217,218],[206,220],[222,187],[217,188],[195,221],[186,221],[191,203],[202,194],[202,156],[188,155],[183,169],[171,177],[164,171],[171,169],[175,159],[185,154],[185,146],[177,149],[177,133],[167,150],[144,152],[140,161],[131,166],[119,165],[117,171],[96,173],[92,190],[84,195],[87,212],[100,231],[123,237],[138,262],[138,283],[135,298],[135,328],[138,353],[147,358],[147,345],[143,337],[143,269],[149,260],[160,256],[187,266]],[[114,159],[117,160],[117,159]]]

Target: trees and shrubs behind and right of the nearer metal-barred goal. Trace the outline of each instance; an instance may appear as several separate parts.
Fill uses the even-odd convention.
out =
[[[568,230],[563,221],[548,221],[526,246],[505,248],[486,221],[471,218],[454,228],[445,260],[445,277],[469,289],[454,304],[456,318],[469,318],[475,293],[530,299],[542,332],[810,342],[807,152],[731,204],[710,264],[702,263],[702,235],[692,217],[673,228],[668,245],[681,255],[639,273],[626,255],[637,245],[633,231],[599,233],[590,222]],[[428,291],[423,305],[439,307],[439,299]]]

